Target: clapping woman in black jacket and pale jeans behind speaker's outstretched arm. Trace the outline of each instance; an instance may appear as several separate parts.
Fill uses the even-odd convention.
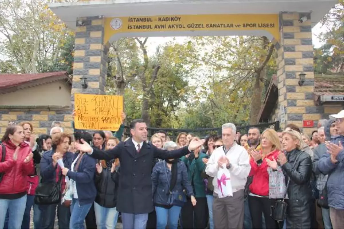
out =
[[[110,137],[106,143],[106,149],[112,149],[119,143],[115,137]],[[95,183],[97,196],[94,202],[97,228],[115,229],[118,219],[117,190],[119,180],[118,159],[111,161],[100,161],[96,165],[97,173]]]

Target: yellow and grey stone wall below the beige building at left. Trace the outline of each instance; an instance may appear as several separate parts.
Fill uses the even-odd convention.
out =
[[[0,137],[3,136],[10,122],[30,122],[33,126],[33,134],[50,134],[53,121],[60,121],[64,132],[73,133],[73,116],[69,110],[48,111],[43,109],[0,109]]]

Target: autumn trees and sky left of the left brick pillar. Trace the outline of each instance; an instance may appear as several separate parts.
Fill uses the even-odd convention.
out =
[[[2,72],[72,73],[73,34],[47,8],[50,0],[0,1]]]

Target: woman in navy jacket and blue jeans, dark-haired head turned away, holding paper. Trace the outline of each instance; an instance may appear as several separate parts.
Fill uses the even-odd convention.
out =
[[[74,133],[74,138],[78,143],[80,143],[80,139],[92,142],[92,135],[86,131]],[[74,154],[71,169],[62,169],[62,174],[67,175],[70,179],[72,193],[69,229],[84,228],[85,217],[97,195],[94,184],[96,163],[96,159],[90,157],[87,153],[78,151]]]

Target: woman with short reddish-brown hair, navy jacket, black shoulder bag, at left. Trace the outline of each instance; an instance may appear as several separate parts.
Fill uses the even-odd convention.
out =
[[[43,154],[41,160],[42,183],[57,182],[61,179],[61,192],[64,191],[66,181],[62,174],[62,168],[71,168],[74,154],[68,152],[71,144],[71,137],[65,133],[58,133],[52,140],[52,150]],[[57,206],[59,228],[69,228],[71,211],[60,203],[51,205],[40,205],[41,209],[41,228],[54,228]]]

